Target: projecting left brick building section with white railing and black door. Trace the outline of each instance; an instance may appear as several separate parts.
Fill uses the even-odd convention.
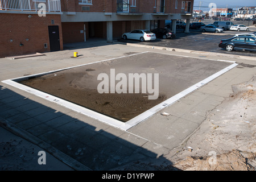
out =
[[[0,0],[0,57],[62,49],[60,0]]]

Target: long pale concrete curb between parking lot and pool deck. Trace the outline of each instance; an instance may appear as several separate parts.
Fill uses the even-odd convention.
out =
[[[225,57],[232,57],[232,58],[236,58],[236,59],[255,60],[255,57],[250,57],[250,56],[228,55],[226,53],[193,51],[193,50],[189,50],[189,49],[180,49],[180,48],[171,48],[171,47],[147,46],[147,45],[140,45],[140,44],[133,44],[133,43],[126,43],[126,46],[144,47],[144,48],[151,48],[151,49],[154,48],[154,49],[161,49],[161,50],[166,50],[166,51],[197,53],[197,54],[213,55],[213,56],[225,56]]]

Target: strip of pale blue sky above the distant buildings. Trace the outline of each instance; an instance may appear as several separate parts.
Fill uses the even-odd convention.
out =
[[[199,10],[199,7],[195,6],[200,6],[200,1],[201,1],[201,8],[200,10],[209,10],[210,8],[209,3],[215,3],[217,8],[218,7],[226,7],[233,6],[233,9],[237,7],[243,7],[243,6],[256,6],[256,1],[255,0],[194,0],[194,10]]]

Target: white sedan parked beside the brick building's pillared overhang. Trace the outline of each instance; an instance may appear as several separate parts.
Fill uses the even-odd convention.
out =
[[[122,35],[123,39],[135,39],[140,40],[141,42],[147,40],[155,40],[156,36],[151,31],[148,30],[133,30]]]

